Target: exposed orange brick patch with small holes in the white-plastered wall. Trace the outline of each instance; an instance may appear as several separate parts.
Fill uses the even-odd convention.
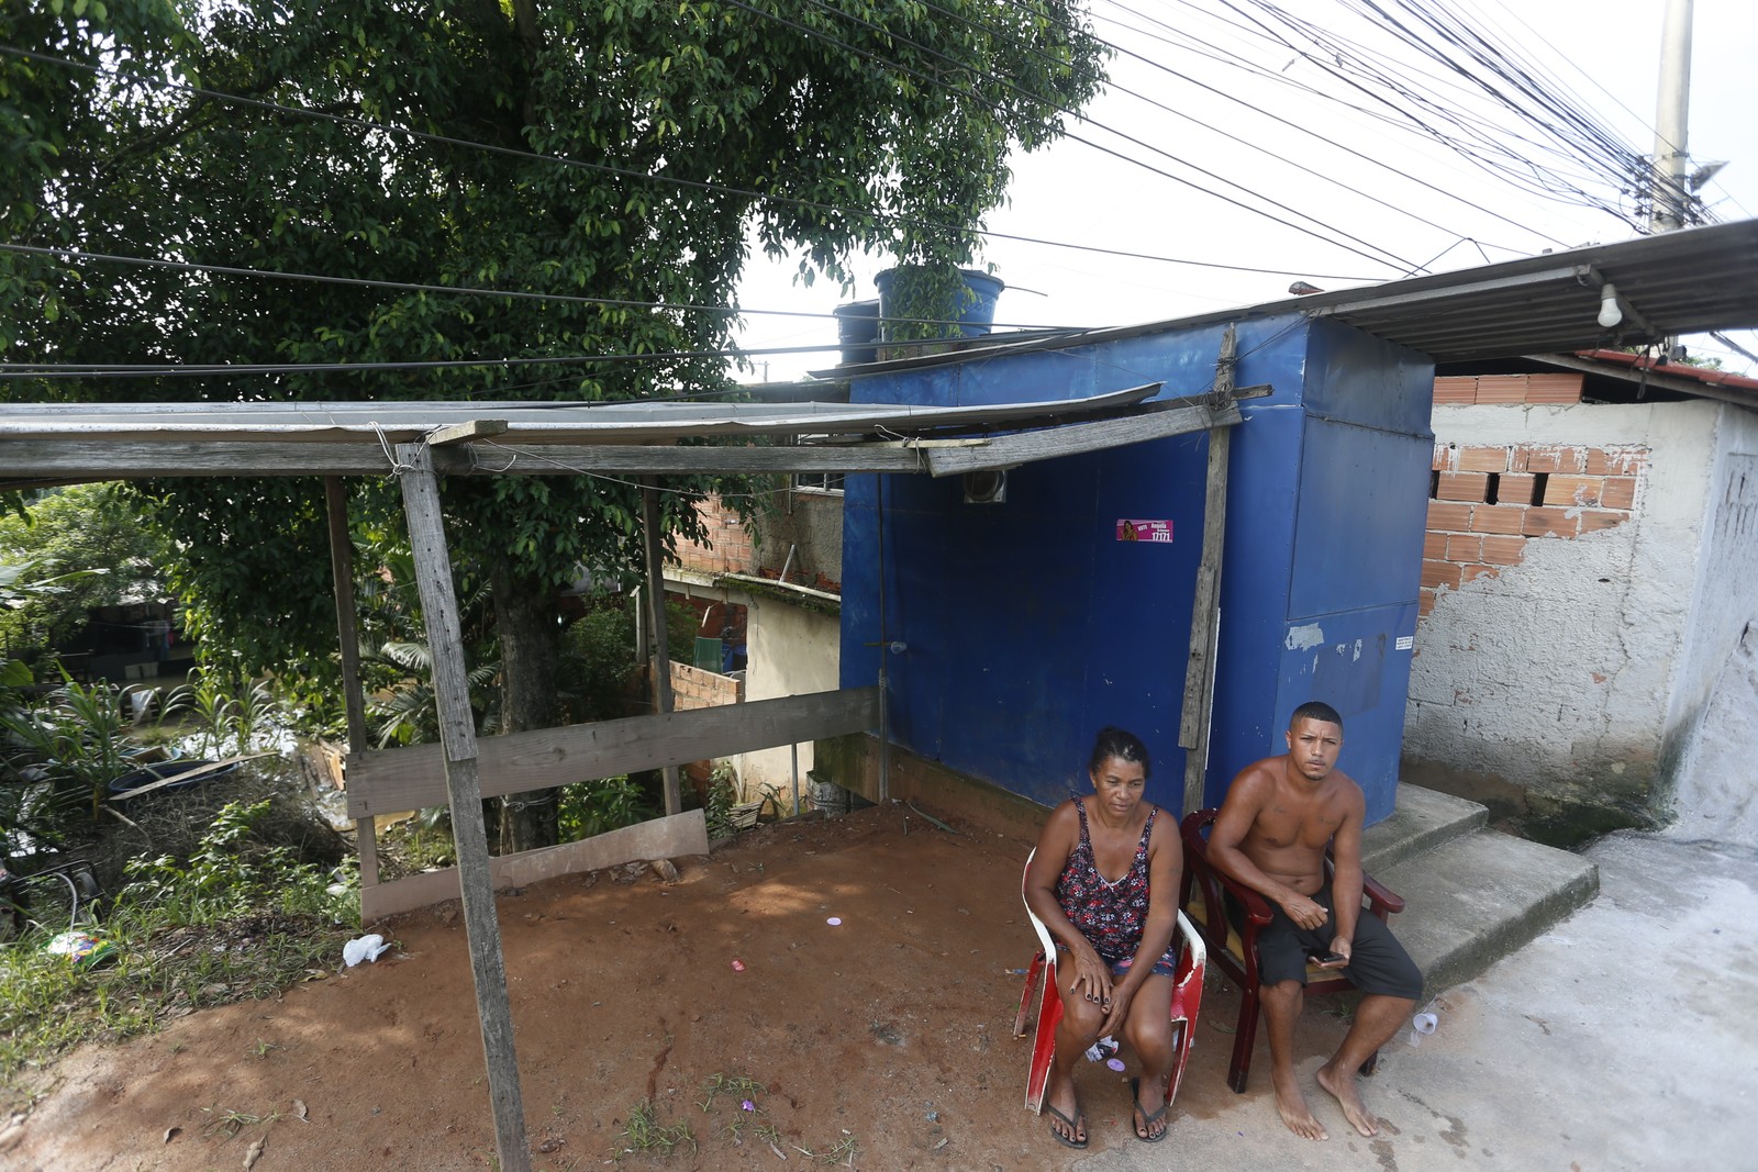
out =
[[[1436,402],[1447,381],[1484,380],[1435,380]],[[1528,541],[1621,525],[1635,511],[1647,460],[1644,446],[1435,445],[1420,613],[1435,608],[1442,589],[1517,564]]]

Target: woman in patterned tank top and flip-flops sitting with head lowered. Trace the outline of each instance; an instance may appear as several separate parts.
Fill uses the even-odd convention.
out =
[[[1141,799],[1150,768],[1141,738],[1101,729],[1086,763],[1092,798],[1071,796],[1050,814],[1027,868],[1025,901],[1057,938],[1062,1024],[1044,1109],[1050,1133],[1069,1147],[1086,1147],[1074,1063],[1118,1031],[1141,1061],[1130,1081],[1136,1139],[1166,1139],[1183,849],[1178,819],[1159,819],[1159,807]]]

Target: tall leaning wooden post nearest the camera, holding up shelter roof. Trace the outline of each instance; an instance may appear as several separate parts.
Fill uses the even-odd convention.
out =
[[[501,1172],[531,1172],[526,1112],[519,1093],[519,1058],[513,1053],[513,1012],[506,996],[506,958],[501,954],[501,924],[494,912],[489,833],[482,822],[482,778],[476,771],[476,724],[469,710],[464,634],[459,627],[452,559],[447,553],[445,520],[440,513],[440,480],[434,476],[427,445],[397,445],[397,480],[403,485],[403,511],[410,524],[415,578],[420,585],[422,619],[432,655],[440,743],[445,750],[447,792],[452,799],[452,835],[457,845],[469,968],[476,980],[482,1051],[489,1067],[496,1151]]]

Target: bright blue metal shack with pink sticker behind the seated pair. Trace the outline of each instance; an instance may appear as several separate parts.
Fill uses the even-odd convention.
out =
[[[860,376],[856,402],[1058,401],[1164,381],[1210,390],[1224,325],[1132,330],[1071,350],[1021,346]],[[1427,508],[1433,364],[1301,315],[1238,325],[1220,641],[1206,803],[1282,752],[1296,705],[1343,713],[1341,768],[1392,812]],[[842,684],[888,657],[891,742],[1041,803],[1081,782],[1093,733],[1153,752],[1150,799],[1183,805],[1178,747],[1208,436],[1016,467],[1006,501],[960,478],[849,476]],[[1120,539],[1167,522],[1171,541]],[[1153,532],[1160,525],[1143,531]],[[881,575],[883,631],[881,631]]]

